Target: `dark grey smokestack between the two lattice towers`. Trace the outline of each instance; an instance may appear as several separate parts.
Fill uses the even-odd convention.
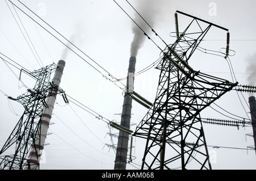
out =
[[[134,86],[134,72],[135,72],[136,57],[131,56],[129,61],[129,69],[127,75],[127,92],[133,91]],[[132,100],[130,96],[124,96],[123,100],[123,110],[121,116],[121,125],[127,129],[130,129],[131,120],[131,103]],[[129,134],[119,132],[118,143],[117,143],[117,153],[115,155],[115,166],[114,170],[126,170],[126,160],[128,151]]]

